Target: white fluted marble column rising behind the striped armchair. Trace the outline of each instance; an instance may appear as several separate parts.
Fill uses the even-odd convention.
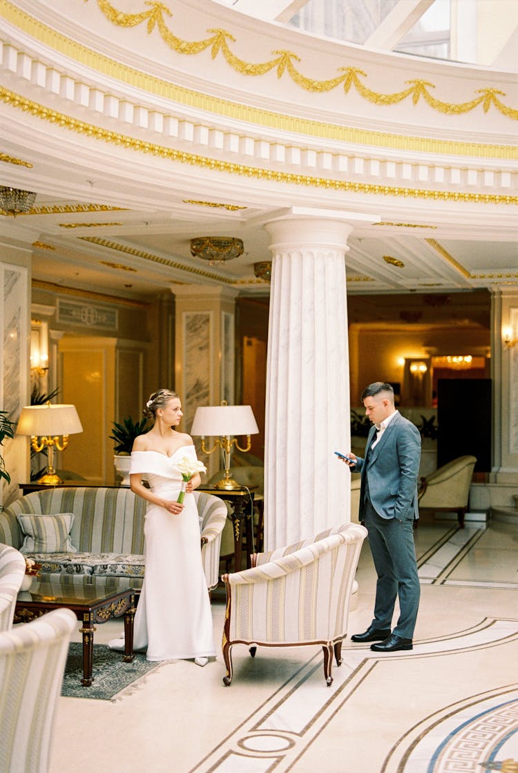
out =
[[[348,217],[349,215],[349,217]],[[292,208],[265,227],[273,254],[268,329],[266,550],[350,520],[347,237],[354,220]]]

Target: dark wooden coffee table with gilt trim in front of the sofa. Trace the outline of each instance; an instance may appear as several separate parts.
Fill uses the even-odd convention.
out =
[[[88,582],[90,580],[90,582]],[[15,623],[24,623],[45,615],[51,609],[71,609],[81,622],[83,635],[83,679],[81,684],[92,683],[95,623],[124,615],[125,662],[133,660],[133,618],[135,595],[138,591],[122,578],[63,577],[61,581],[46,581],[36,577],[29,591],[18,594],[15,605]]]

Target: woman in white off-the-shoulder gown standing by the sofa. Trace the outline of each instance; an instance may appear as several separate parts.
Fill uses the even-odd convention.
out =
[[[196,459],[188,434],[177,432],[182,418],[178,395],[158,390],[146,403],[155,420],[139,435],[131,451],[131,491],[147,500],[145,514],[145,576],[135,614],[133,647],[147,649],[148,660],[195,659],[205,666],[216,655],[210,598],[201,560],[198,509],[193,489],[199,473],[186,484],[183,503],[178,464]],[[150,488],[142,484],[148,481]],[[124,649],[124,640],[109,642]]]

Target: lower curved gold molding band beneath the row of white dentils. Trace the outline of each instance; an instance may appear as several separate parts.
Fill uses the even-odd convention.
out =
[[[518,203],[518,196],[504,196],[496,193],[459,193],[457,191],[451,192],[421,188],[402,188],[398,186],[385,186],[377,183],[373,184],[370,182],[351,182],[349,180],[337,180],[328,177],[297,175],[292,172],[281,172],[274,169],[246,166],[244,164],[210,158],[210,156],[179,151],[175,148],[167,148],[164,145],[155,145],[153,142],[146,142],[141,139],[129,137],[118,131],[109,131],[100,126],[95,126],[94,124],[87,124],[85,121],[79,121],[77,118],[51,110],[49,107],[45,107],[42,104],[32,102],[32,100],[28,100],[26,97],[15,94],[4,87],[0,87],[0,100],[5,102],[5,104],[9,104],[26,113],[30,113],[43,121],[49,121],[54,126],[65,128],[69,131],[75,131],[77,134],[118,145],[119,147],[129,148],[136,152],[156,155],[160,158],[168,159],[169,161],[196,165],[213,172],[228,172],[230,174],[240,175],[241,177],[260,179],[268,182],[283,182],[290,185],[325,188],[351,193],[374,194],[377,196],[399,196],[400,198],[434,199],[435,201],[455,201],[480,204]],[[38,209],[45,208],[32,209],[30,214],[39,214]],[[105,209],[121,208],[106,207]],[[66,211],[66,209],[62,208],[60,211]],[[81,210],[75,209],[73,211]],[[86,209],[83,211],[94,210]]]

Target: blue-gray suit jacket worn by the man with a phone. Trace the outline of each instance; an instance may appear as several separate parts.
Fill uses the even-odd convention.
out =
[[[417,476],[421,461],[421,434],[411,421],[399,412],[390,421],[380,441],[370,449],[376,427],[370,428],[365,458],[357,458],[353,472],[361,472],[360,521],[363,521],[363,503],[366,481],[369,482],[370,501],[382,518],[400,521],[419,517],[417,509]]]

